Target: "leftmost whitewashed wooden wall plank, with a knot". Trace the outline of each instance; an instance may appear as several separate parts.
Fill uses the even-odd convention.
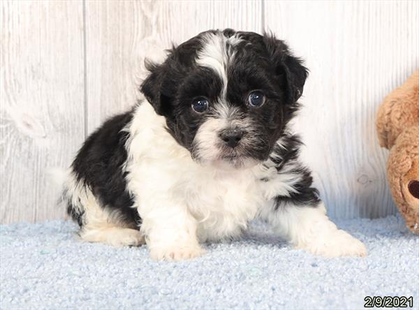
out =
[[[80,1],[0,3],[0,223],[64,215],[47,170],[84,139]]]

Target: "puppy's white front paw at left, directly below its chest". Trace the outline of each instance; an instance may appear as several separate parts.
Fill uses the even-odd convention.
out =
[[[199,245],[191,246],[168,246],[152,248],[150,256],[154,260],[186,260],[202,256],[205,250]]]

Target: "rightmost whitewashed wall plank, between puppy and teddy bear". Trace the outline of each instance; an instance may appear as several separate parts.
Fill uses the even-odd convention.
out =
[[[311,73],[295,127],[332,217],[394,214],[374,121],[419,67],[419,1],[265,1],[265,29]]]

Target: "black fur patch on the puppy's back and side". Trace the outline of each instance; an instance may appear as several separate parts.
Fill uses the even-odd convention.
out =
[[[133,198],[126,191],[122,165],[126,162],[125,148],[128,133],[122,129],[131,121],[133,112],[117,115],[92,133],[84,142],[73,161],[73,172],[79,182],[84,182],[101,206],[117,210],[126,223],[133,226],[141,222]],[[82,214],[69,205],[68,214],[82,225]]]

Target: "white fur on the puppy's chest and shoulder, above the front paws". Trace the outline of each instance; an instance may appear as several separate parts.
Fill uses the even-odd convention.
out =
[[[142,218],[182,206],[197,222],[200,241],[240,235],[263,203],[255,169],[223,171],[195,163],[148,103],[126,128],[128,190]]]

